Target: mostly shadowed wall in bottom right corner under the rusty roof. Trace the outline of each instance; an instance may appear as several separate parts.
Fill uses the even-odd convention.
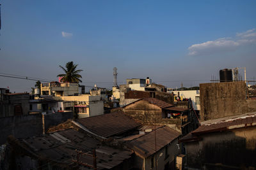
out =
[[[188,167],[216,169],[214,164],[256,168],[256,127],[200,136],[201,141],[186,143]],[[225,168],[223,168],[225,169]]]

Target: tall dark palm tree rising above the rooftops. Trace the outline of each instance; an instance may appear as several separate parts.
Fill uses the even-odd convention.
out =
[[[61,78],[61,81],[63,82],[69,82],[69,83],[82,82],[82,80],[79,79],[79,78],[82,78],[82,76],[79,73],[83,70],[82,69],[76,70],[77,66],[78,64],[74,64],[72,61],[67,62],[66,69],[60,66],[61,69],[63,69],[63,71],[65,72],[65,74],[58,74],[57,77],[63,77]]]

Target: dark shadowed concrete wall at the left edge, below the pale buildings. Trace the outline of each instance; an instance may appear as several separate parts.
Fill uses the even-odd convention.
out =
[[[65,122],[68,118],[73,118],[72,112],[59,112],[47,114],[45,116],[45,131],[51,126]],[[16,117],[0,118],[0,145],[6,142],[9,135],[15,138],[28,138],[38,136],[43,132],[42,115],[22,115]]]

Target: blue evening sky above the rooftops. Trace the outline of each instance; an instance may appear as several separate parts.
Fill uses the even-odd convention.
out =
[[[152,78],[198,86],[220,69],[256,78],[256,1],[0,0],[0,75],[56,80],[69,61],[82,85]],[[240,69],[241,74],[243,69]],[[255,79],[256,80],[256,79]],[[0,87],[29,92],[35,81],[0,76]]]

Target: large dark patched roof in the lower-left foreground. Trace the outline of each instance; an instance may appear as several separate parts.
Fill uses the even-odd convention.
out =
[[[26,148],[29,148],[29,153],[33,153],[34,156],[68,166],[73,163],[72,160],[76,159],[76,150],[92,154],[93,148],[96,148],[97,169],[109,169],[118,166],[125,159],[129,159],[132,154],[132,152],[117,150],[109,146],[100,146],[100,141],[74,129],[66,129],[45,136],[19,139],[19,141]],[[79,161],[93,165],[93,158],[88,155],[84,155]]]

